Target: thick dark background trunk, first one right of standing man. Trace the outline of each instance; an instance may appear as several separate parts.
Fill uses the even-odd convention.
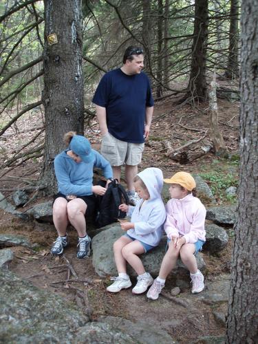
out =
[[[195,0],[195,23],[191,72],[187,97],[194,100],[206,100],[206,50],[208,38],[208,0]]]

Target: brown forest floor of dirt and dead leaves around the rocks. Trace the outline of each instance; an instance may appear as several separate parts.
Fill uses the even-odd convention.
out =
[[[217,204],[226,204],[232,200],[227,199],[224,193],[226,182],[237,178],[238,167],[234,159],[217,158],[213,153],[206,153],[201,158],[189,164],[179,164],[166,156],[166,149],[162,142],[169,140],[173,149],[180,147],[189,140],[195,140],[203,136],[208,129],[208,105],[198,107],[178,107],[171,98],[162,100],[155,105],[155,114],[151,127],[151,135],[144,149],[142,163],[139,170],[147,166],[157,166],[162,169],[164,177],[171,177],[176,171],[189,171],[190,173],[203,173],[205,179],[213,187]],[[227,100],[218,100],[219,127],[224,136],[226,147],[230,156],[238,154],[239,142],[239,103],[230,103]],[[166,116],[164,116],[166,114]],[[30,121],[19,125],[26,125],[25,133],[7,131],[7,140],[1,144],[4,151],[4,159],[8,153],[14,150],[14,144],[22,145],[30,136],[30,127],[39,125],[39,118],[30,117]],[[98,149],[100,134],[98,125],[92,122],[86,136]],[[17,148],[15,148],[17,149]],[[0,162],[3,164],[3,160]],[[36,179],[39,175],[41,161],[24,162],[19,169],[14,169],[0,179],[0,191],[8,196],[12,189],[23,185],[23,178]],[[219,184],[216,186],[216,183]],[[229,186],[229,185],[228,185]],[[41,199],[42,202],[42,199]],[[206,204],[208,205],[208,204]],[[32,206],[30,204],[29,206]],[[20,210],[21,211],[21,210]],[[98,277],[92,266],[92,257],[88,259],[76,259],[76,233],[72,228],[68,229],[69,246],[65,250],[65,257],[72,264],[78,275],[77,283],[67,283],[67,261],[63,257],[52,257],[49,253],[52,241],[56,238],[56,231],[52,224],[25,222],[8,213],[0,211],[0,233],[23,235],[28,237],[32,244],[38,244],[36,250],[30,250],[21,246],[13,247],[14,260],[10,264],[10,270],[24,279],[28,279],[34,286],[62,294],[65,298],[78,302],[75,289],[87,290],[92,319],[98,319],[101,315],[122,316],[131,321],[144,320],[151,326],[157,326],[169,332],[179,343],[193,343],[200,336],[223,335],[225,328],[215,322],[211,307],[199,304],[192,299],[194,308],[186,308],[160,297],[158,301],[147,301],[145,295],[133,296],[131,288],[122,290],[118,294],[110,294],[105,291],[109,279]],[[230,260],[232,250],[232,235],[228,246],[217,255],[209,255],[204,252],[206,261],[206,281],[213,281],[221,274],[230,272]],[[69,277],[72,279],[72,277]],[[63,282],[62,282],[63,281]],[[173,288],[173,281],[166,283],[166,292]],[[191,297],[190,286],[182,290],[180,296]],[[171,320],[174,321],[171,325]],[[176,323],[178,321],[178,325]],[[182,327],[182,323],[187,325]],[[201,342],[200,342],[201,343]]]

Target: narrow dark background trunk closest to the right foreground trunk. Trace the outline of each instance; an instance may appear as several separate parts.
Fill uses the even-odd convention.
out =
[[[228,46],[228,69],[225,72],[226,78],[238,78],[238,17],[239,0],[231,0],[230,3],[230,28],[229,28],[229,46]]]

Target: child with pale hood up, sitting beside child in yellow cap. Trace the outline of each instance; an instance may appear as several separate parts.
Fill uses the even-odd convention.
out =
[[[149,167],[138,173],[134,186],[140,200],[136,206],[120,204],[120,210],[131,216],[131,222],[122,222],[121,228],[127,233],[114,243],[114,257],[118,277],[112,278],[114,283],[107,287],[108,292],[120,292],[131,287],[127,275],[127,262],[136,271],[138,281],[133,294],[142,294],[153,283],[153,278],[146,272],[139,255],[158,246],[162,237],[162,225],[166,219],[166,211],[161,191],[163,175],[160,169]]]

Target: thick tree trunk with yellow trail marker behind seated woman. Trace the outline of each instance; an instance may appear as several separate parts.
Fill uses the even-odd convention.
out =
[[[45,156],[43,180],[54,184],[53,160],[63,149],[63,134],[83,133],[81,0],[45,0],[43,52]],[[56,42],[54,36],[56,34]]]

